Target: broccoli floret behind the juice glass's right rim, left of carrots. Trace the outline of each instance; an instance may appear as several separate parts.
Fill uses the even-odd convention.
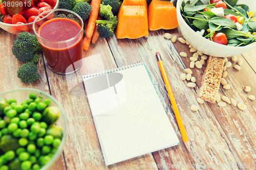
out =
[[[78,2],[74,6],[73,10],[75,13],[77,13],[83,21],[87,20],[91,14],[92,6],[89,5],[87,2]]]

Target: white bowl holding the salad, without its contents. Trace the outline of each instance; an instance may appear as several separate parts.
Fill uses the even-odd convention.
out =
[[[210,41],[199,34],[197,34],[193,29],[191,29],[180,13],[181,3],[188,0],[178,0],[177,2],[177,18],[181,33],[183,34],[184,38],[197,50],[201,51],[204,54],[215,56],[215,57],[230,57],[236,56],[239,54],[243,54],[248,52],[256,47],[256,43],[247,45],[247,46],[228,46],[219,44],[213,41]],[[192,2],[192,1],[190,1]],[[204,2],[204,1],[202,1]],[[206,3],[208,0],[206,1]],[[253,0],[239,0],[237,4],[246,4],[249,7],[249,11],[256,11],[256,3]]]

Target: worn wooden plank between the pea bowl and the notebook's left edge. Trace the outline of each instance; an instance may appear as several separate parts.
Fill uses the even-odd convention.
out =
[[[83,52],[83,57],[98,53],[102,61],[90,61],[91,68],[89,69],[88,63],[83,63],[82,67],[72,75],[60,76],[47,68],[51,93],[62,105],[68,120],[68,137],[64,148],[67,168],[145,169],[147,162],[155,162],[152,154],[105,166],[90,106],[81,81],[85,72],[102,69],[102,63],[105,69],[116,68],[108,43],[103,38],[99,38],[96,45],[91,45],[88,51]],[[72,82],[70,80],[74,82],[73,85],[68,83]],[[69,89],[72,89],[71,93]]]

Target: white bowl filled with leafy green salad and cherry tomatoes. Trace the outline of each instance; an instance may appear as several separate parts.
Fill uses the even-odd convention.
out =
[[[197,50],[210,56],[231,57],[256,47],[254,1],[201,0],[190,3],[188,0],[177,1],[177,19],[184,38]]]

